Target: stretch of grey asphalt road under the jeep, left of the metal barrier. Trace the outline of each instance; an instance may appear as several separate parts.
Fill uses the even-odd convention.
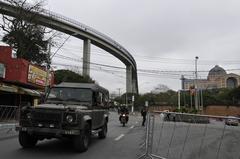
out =
[[[17,137],[0,140],[0,156],[3,159],[67,158],[67,159],[133,159],[143,152],[145,128],[141,126],[140,116],[130,116],[129,123],[122,127],[117,113],[110,113],[106,139],[92,137],[87,152],[77,153],[71,142],[57,139],[40,141],[36,147],[22,149]]]

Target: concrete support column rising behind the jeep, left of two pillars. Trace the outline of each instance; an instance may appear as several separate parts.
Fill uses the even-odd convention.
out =
[[[83,77],[90,76],[90,49],[91,49],[91,40],[85,39],[83,41]]]

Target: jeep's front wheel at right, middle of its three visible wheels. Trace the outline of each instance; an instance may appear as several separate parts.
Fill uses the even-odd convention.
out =
[[[73,139],[75,150],[78,152],[87,151],[88,146],[90,144],[90,138],[91,138],[91,128],[89,124],[86,124],[81,134],[74,137]]]

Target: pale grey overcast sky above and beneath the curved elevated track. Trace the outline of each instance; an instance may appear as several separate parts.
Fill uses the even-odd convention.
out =
[[[133,55],[138,70],[158,71],[153,75],[139,71],[140,93],[158,84],[180,89],[181,74],[194,77],[187,71],[194,71],[195,56],[199,71],[218,64],[228,73],[240,73],[240,1],[48,0],[45,7],[119,42]],[[91,50],[91,62],[125,67],[109,53],[94,46]],[[82,40],[69,38],[54,57],[55,63],[81,67],[61,55],[81,59]],[[91,66],[91,77],[111,92],[118,93],[118,88],[125,92],[125,74],[121,69]],[[199,72],[200,78],[206,75]]]

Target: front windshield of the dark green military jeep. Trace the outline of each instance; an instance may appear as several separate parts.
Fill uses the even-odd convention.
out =
[[[92,90],[83,88],[54,87],[50,90],[47,103],[90,104]]]

